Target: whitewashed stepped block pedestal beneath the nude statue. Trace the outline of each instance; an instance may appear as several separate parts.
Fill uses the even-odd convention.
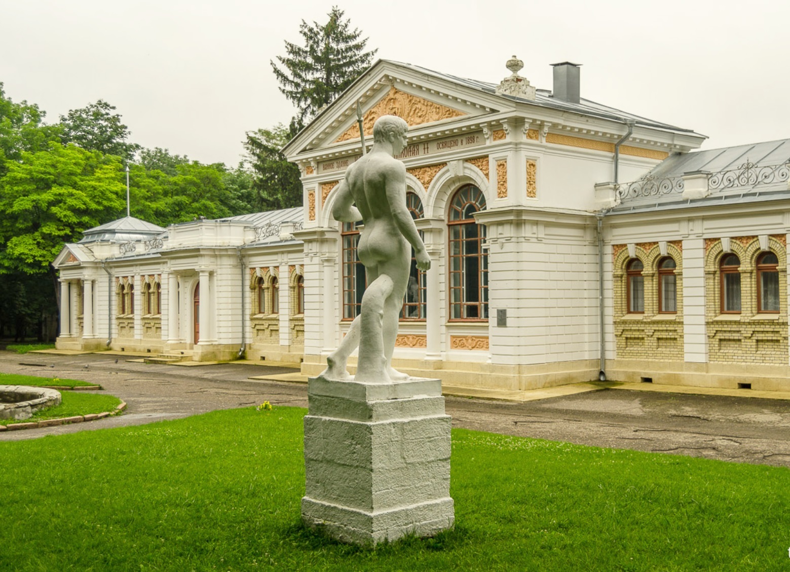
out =
[[[307,525],[354,544],[453,527],[450,416],[438,379],[310,378],[308,396]]]

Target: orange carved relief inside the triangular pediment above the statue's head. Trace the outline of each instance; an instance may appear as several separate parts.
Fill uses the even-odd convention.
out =
[[[389,88],[389,93],[365,113],[363,128],[366,136],[373,134],[373,124],[382,115],[397,115],[404,119],[409,126],[416,126],[423,123],[442,121],[442,119],[453,119],[466,114],[463,111],[439,105],[391,87]],[[356,123],[350,126],[340,137],[337,137],[335,142],[340,143],[351,139],[359,139],[359,126]]]

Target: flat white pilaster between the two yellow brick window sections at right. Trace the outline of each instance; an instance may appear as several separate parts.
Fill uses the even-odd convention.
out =
[[[683,241],[683,352],[687,362],[708,362],[704,239]]]

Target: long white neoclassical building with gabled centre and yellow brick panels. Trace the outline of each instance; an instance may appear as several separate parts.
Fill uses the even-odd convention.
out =
[[[302,362],[317,374],[359,312],[359,228],[333,189],[381,115],[409,124],[412,266],[396,367],[456,389],[600,377],[790,388],[790,141],[705,137],[580,96],[379,61],[285,148],[303,209],[167,229],[121,219],[66,245],[60,348]],[[745,385],[744,385],[745,384]]]

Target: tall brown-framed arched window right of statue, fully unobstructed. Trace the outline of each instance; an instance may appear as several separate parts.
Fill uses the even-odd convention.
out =
[[[486,208],[483,192],[474,185],[457,190],[450,201],[450,319],[488,319],[488,254],[483,252],[486,228],[474,213]]]

